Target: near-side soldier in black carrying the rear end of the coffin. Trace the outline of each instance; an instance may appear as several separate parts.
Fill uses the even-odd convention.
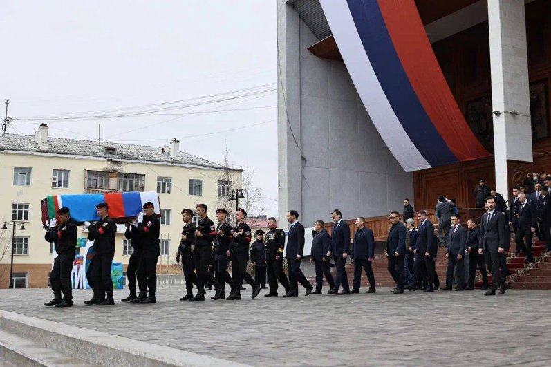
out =
[[[138,283],[147,283],[149,296],[146,299],[136,297],[131,303],[156,303],[155,291],[157,289],[157,261],[160,255],[159,241],[159,216],[155,214],[155,207],[148,201],[142,207],[143,213],[138,214],[138,233],[144,247],[144,252],[138,265]]]

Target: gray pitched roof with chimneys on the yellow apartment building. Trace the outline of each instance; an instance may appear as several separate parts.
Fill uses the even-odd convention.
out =
[[[23,134],[0,135],[0,151],[6,150],[225,168],[221,164],[180,151],[180,142],[176,139],[165,147],[117,142],[101,142],[98,144],[97,140],[48,137],[48,126],[45,124],[39,127],[35,136]],[[236,170],[242,171],[241,169]]]

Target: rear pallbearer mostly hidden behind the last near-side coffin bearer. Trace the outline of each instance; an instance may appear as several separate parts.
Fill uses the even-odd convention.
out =
[[[129,302],[138,297],[145,299],[147,294],[147,283],[143,279],[138,279],[138,288],[140,290],[140,295],[136,296],[136,272],[138,271],[138,266],[144,252],[144,246],[142,244],[142,238],[140,232],[138,231],[138,222],[133,220],[132,223],[126,223],[127,230],[124,231],[124,238],[130,240],[130,245],[132,246],[132,254],[128,261],[127,266],[127,280],[128,280],[128,289],[130,294],[127,298],[121,299],[121,302]]]

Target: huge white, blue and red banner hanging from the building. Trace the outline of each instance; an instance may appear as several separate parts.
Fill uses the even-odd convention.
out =
[[[359,97],[405,171],[490,156],[465,121],[414,0],[320,0]]]

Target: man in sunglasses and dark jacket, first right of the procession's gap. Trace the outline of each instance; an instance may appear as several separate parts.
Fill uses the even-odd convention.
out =
[[[406,226],[400,222],[400,214],[393,211],[389,215],[391,227],[386,240],[386,258],[389,261],[387,269],[391,273],[396,288],[394,294],[404,293],[404,256],[406,254]]]

